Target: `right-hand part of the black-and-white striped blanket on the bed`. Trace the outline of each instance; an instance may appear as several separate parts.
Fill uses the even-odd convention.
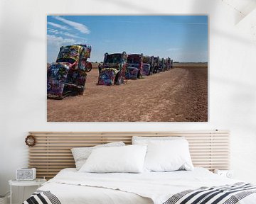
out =
[[[163,204],[235,204],[252,193],[256,193],[256,186],[250,183],[201,187],[177,193]]]

